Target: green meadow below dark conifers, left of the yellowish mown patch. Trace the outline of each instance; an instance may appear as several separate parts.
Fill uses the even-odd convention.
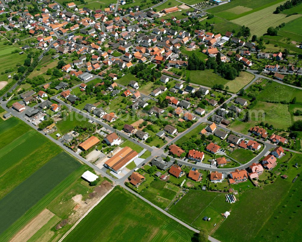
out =
[[[212,88],[214,84],[225,85],[228,80],[224,79],[220,75],[217,75],[211,69],[206,69],[204,71],[186,71],[186,77],[191,79],[191,83],[204,85]]]

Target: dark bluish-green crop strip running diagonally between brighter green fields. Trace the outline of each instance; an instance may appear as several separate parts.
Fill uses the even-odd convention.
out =
[[[0,201],[0,233],[60,184],[80,163],[65,152],[53,157]]]

